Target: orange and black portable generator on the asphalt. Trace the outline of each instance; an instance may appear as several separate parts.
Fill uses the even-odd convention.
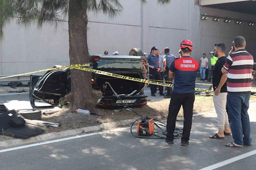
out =
[[[138,120],[137,132],[139,136],[150,136],[154,130],[154,119],[144,117]]]

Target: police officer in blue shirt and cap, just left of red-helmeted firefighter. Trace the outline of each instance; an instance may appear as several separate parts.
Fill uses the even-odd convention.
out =
[[[172,62],[175,59],[175,56],[170,54],[170,49],[168,47],[166,47],[164,50],[164,79],[165,79],[165,83],[167,84],[172,84],[172,82],[168,82],[168,81],[172,81],[172,79],[169,78],[168,73],[170,70],[170,67],[172,65]],[[167,89],[167,93],[164,96],[165,99],[171,98],[172,97],[172,87],[166,87]]]

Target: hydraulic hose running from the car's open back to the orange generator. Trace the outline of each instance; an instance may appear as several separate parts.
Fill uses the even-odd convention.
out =
[[[139,118],[139,119],[136,119],[136,121],[134,121],[134,122],[132,123],[132,125],[131,125],[131,129],[130,129],[130,130],[131,130],[131,134],[132,134],[133,136],[139,137],[139,138],[143,138],[143,139],[164,139],[164,138],[166,138],[166,137],[163,137],[163,136],[160,136],[160,135],[157,135],[157,134],[158,134],[158,133],[162,133],[164,136],[166,136],[167,131],[164,130],[164,129],[162,129],[160,126],[166,128],[167,125],[166,125],[165,123],[159,121],[159,120],[156,120],[156,119],[154,119],[154,121],[157,121],[157,122],[162,123],[162,124],[159,124],[159,123],[157,123],[157,122],[154,122],[154,124],[156,125],[156,127],[158,127],[159,129],[161,129],[161,131],[154,131],[154,132],[153,132],[153,135],[156,136],[156,137],[144,137],[144,136],[136,136],[136,135],[134,135],[134,133],[132,132],[132,126],[134,125],[134,123],[135,123],[135,122],[138,122],[140,119],[143,119],[143,118],[145,118],[145,117],[147,117],[147,116],[142,116],[142,115],[140,115],[139,113],[137,113],[136,111],[134,111],[132,108],[128,107],[128,106],[123,102],[123,100],[118,96],[118,94],[117,94],[116,91],[112,88],[112,86],[110,85],[110,83],[109,83],[109,82],[105,82],[105,84],[108,84],[108,85],[109,85],[109,87],[111,88],[111,90],[112,90],[112,91],[114,92],[114,94],[116,95],[117,99],[120,100],[120,101],[124,104],[125,107],[127,107],[127,108],[130,109],[133,113],[135,113],[135,114],[137,114],[137,115],[139,115],[139,116],[141,117],[141,118]],[[174,135],[174,139],[179,138],[179,137],[180,137],[180,134],[182,134],[182,132],[183,132],[182,129],[175,128],[175,130],[174,130],[174,134],[175,134],[175,135]]]

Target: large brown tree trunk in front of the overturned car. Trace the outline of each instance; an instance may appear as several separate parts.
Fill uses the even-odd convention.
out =
[[[87,14],[82,0],[69,1],[69,58],[70,64],[89,63],[87,46]],[[82,70],[71,70],[71,94],[66,96],[70,109],[78,108],[95,111],[97,93],[92,90],[91,73]]]

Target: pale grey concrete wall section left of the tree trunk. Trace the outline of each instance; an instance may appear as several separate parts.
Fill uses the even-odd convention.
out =
[[[57,33],[54,27],[45,26],[37,30],[32,25],[28,30],[17,26],[16,21],[4,29],[1,43],[1,75],[21,74],[30,71],[68,65],[68,23],[60,25]]]

